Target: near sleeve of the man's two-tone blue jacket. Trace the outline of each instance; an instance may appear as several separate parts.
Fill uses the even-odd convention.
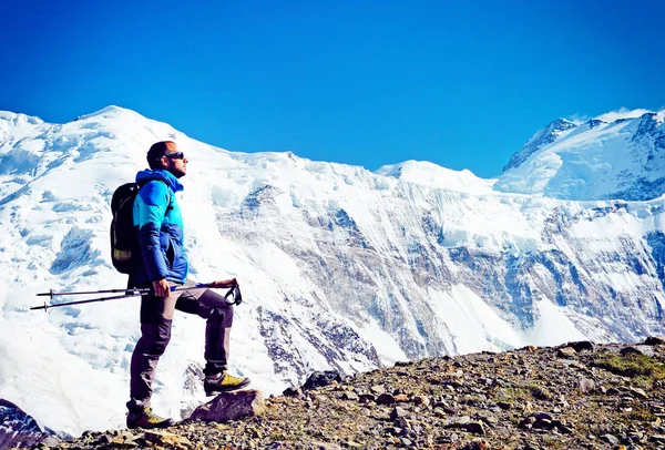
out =
[[[168,207],[168,187],[161,182],[150,182],[139,190],[139,246],[151,282],[166,278],[166,254],[160,241],[162,223]],[[164,236],[166,238],[166,236]],[[167,246],[167,243],[165,243]]]

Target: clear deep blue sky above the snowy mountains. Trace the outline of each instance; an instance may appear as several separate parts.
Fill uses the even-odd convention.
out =
[[[0,110],[490,177],[556,117],[665,106],[663,30],[655,0],[2,1]]]

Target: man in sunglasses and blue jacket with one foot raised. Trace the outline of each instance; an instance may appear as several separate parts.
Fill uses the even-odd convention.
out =
[[[175,193],[187,173],[187,158],[171,141],[157,142],[147,152],[150,170],[136,174],[141,186],[134,201],[133,222],[140,255],[132,260],[130,287],[150,287],[154,294],[141,297],[141,338],[132,354],[127,428],[162,428],[172,419],[156,416],[150,408],[152,382],[160,357],[171,339],[175,309],[206,319],[206,365],[203,386],[206,395],[236,390],[249,378],[234,377],[227,370],[233,306],[207,288],[171,292],[170,286],[193,286],[187,279],[188,262],[183,243],[183,221]],[[228,287],[237,285],[226,280]]]

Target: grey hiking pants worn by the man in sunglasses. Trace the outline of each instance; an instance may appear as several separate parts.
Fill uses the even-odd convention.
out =
[[[187,280],[185,286],[193,285]],[[224,297],[207,288],[178,290],[167,298],[142,296],[141,338],[132,354],[130,368],[130,411],[150,406],[155,369],[171,340],[175,309],[206,319],[204,374],[214,375],[227,369],[233,306],[224,301]]]

